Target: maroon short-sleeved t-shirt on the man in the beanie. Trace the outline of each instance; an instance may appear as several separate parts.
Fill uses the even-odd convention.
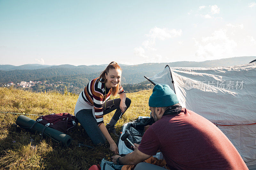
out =
[[[186,108],[153,123],[138,149],[151,156],[160,150],[171,169],[248,169],[218,127]]]

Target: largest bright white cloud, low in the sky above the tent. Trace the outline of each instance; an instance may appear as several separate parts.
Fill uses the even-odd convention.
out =
[[[202,37],[201,41],[195,40],[196,57],[203,60],[220,59],[232,54],[237,47],[236,41],[227,36],[227,29],[219,29],[212,36]]]

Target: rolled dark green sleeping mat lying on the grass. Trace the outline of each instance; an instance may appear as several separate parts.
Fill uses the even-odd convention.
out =
[[[72,140],[69,135],[62,133],[59,130],[46,127],[40,122],[36,122],[33,119],[30,119],[29,117],[24,115],[20,115],[17,118],[16,124],[21,128],[27,129],[31,132],[37,131],[41,133],[43,137],[51,137],[53,140],[61,143],[63,146],[69,146]]]

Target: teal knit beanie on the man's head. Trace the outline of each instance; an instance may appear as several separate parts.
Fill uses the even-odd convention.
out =
[[[167,107],[179,103],[179,100],[169,85],[155,85],[153,93],[149,97],[148,106]]]

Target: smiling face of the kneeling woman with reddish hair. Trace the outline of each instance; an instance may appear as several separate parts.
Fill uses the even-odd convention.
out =
[[[108,74],[105,73],[107,78],[106,87],[109,89],[111,87],[116,87],[121,80],[122,71],[120,69],[111,69]]]

